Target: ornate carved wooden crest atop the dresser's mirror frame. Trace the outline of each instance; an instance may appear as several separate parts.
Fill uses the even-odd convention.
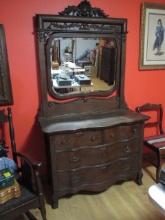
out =
[[[93,17],[106,18],[108,17],[100,8],[91,7],[87,0],[82,1],[78,6],[68,6],[59,15],[76,16],[76,17]]]

